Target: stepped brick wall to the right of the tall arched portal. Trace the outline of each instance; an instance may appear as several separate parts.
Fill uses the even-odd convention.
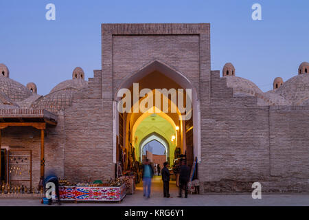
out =
[[[308,107],[258,107],[211,74],[211,117],[202,118],[199,179],[205,192],[308,192]]]

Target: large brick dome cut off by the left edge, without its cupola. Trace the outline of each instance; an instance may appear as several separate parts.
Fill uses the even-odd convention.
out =
[[[32,96],[27,87],[0,74],[0,91],[13,101],[21,101]]]

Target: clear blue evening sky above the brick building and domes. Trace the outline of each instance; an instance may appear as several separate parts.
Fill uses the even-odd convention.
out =
[[[56,5],[56,21],[45,19],[47,3]],[[253,3],[262,5],[262,21],[251,19]],[[307,0],[1,0],[0,63],[44,95],[77,66],[87,78],[100,69],[101,23],[211,23],[211,69],[231,62],[237,76],[267,91],[309,61],[308,12]]]

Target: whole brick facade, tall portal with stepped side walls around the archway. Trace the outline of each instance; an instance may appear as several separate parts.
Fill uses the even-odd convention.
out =
[[[47,128],[47,172],[69,181],[115,176],[115,94],[124,78],[156,60],[185,74],[197,89],[201,193],[249,192],[255,181],[264,192],[309,192],[309,107],[258,106],[256,97],[233,97],[227,79],[211,71],[208,23],[102,24],[102,70],[58,111],[58,125]],[[39,131],[4,129],[2,145],[32,149],[36,186]]]

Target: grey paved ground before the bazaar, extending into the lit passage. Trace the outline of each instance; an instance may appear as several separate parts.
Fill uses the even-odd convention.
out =
[[[143,197],[143,187],[137,185],[134,195],[126,195],[122,203],[68,203],[62,206],[309,206],[309,195],[262,194],[262,199],[252,199],[251,194],[239,195],[188,195],[188,198],[177,198],[178,188],[174,181],[170,183],[172,198],[163,198],[163,186],[160,177],[152,181],[150,199]],[[40,199],[0,199],[0,206],[46,206]]]

